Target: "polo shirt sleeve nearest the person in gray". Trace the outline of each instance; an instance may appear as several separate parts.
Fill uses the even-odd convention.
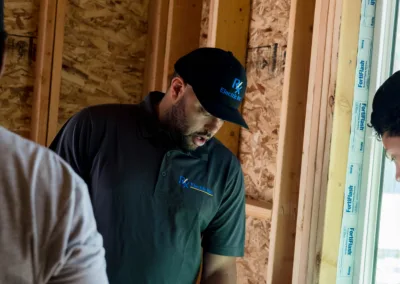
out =
[[[91,166],[91,136],[92,120],[90,110],[87,108],[75,114],[64,124],[49,147],[86,182],[88,182]]]

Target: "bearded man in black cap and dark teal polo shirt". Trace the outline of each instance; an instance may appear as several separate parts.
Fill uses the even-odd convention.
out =
[[[197,49],[166,94],[89,107],[50,146],[87,182],[110,283],[236,283],[245,191],[237,158],[213,136],[238,111],[246,72],[230,52]]]

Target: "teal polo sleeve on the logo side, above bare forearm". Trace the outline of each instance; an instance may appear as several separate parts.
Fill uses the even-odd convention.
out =
[[[243,172],[236,166],[221,205],[203,234],[203,249],[212,254],[241,257],[245,239],[245,190]]]

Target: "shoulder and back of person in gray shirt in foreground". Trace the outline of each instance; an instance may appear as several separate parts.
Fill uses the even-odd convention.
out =
[[[83,180],[50,150],[2,127],[0,283],[108,283]]]

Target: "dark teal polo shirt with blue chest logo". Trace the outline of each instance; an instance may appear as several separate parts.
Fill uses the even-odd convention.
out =
[[[111,284],[193,283],[202,248],[244,253],[239,161],[216,139],[175,147],[155,113],[162,97],[86,108],[50,146],[88,184]]]

